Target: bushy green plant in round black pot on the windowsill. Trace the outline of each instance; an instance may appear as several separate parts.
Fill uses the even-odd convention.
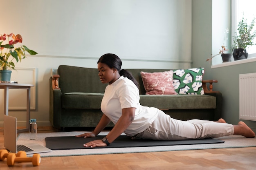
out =
[[[247,19],[244,17],[238,23],[236,35],[233,37],[234,44],[231,46],[234,51],[234,60],[241,60],[248,57],[246,48],[248,46],[256,45],[254,38],[256,37],[256,31],[253,30],[255,24],[255,18],[251,24],[247,24]]]

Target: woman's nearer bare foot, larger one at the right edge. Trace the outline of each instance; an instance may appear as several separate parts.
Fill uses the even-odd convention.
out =
[[[238,125],[234,125],[234,135],[242,135],[244,137],[255,137],[254,131],[249,128],[245,122],[239,121]]]

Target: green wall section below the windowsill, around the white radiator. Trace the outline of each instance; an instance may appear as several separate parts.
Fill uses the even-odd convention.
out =
[[[239,121],[239,74],[256,73],[256,62],[213,68],[212,73],[218,77],[217,88],[223,95],[223,118],[236,124]],[[243,121],[256,131],[256,121]]]

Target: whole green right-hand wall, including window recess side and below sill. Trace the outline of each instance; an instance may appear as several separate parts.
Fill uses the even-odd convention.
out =
[[[223,118],[231,124],[237,124],[239,120],[239,74],[255,73],[256,62],[236,64],[211,68],[210,62],[205,62],[211,53],[218,52],[216,46],[222,42],[219,35],[222,30],[230,25],[230,0],[192,0],[192,61],[193,67],[204,67],[204,79],[217,79],[218,83],[213,88],[220,91],[223,96]],[[216,4],[227,5],[227,10],[216,10]],[[219,7],[219,6],[217,6]],[[218,12],[216,14],[216,12]],[[222,18],[216,20],[216,16]],[[217,18],[218,19],[218,18]],[[220,24],[226,20],[225,24]],[[221,28],[216,28],[221,27]],[[219,30],[218,31],[216,31]],[[230,29],[231,30],[231,29]],[[214,34],[212,34],[214,33]],[[219,33],[219,34],[218,34]],[[229,35],[230,38],[230,35]],[[220,44],[221,45],[221,44]],[[218,59],[219,60],[219,59]],[[214,63],[214,62],[213,62]],[[256,131],[256,121],[243,120]]]

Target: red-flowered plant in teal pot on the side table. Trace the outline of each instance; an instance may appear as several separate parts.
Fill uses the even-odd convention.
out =
[[[25,59],[26,51],[30,55],[37,54],[35,51],[28,49],[25,45],[14,48],[14,44],[17,43],[22,43],[22,36],[20,34],[14,35],[11,33],[9,35],[1,34],[0,36],[0,81],[10,81],[11,71],[9,69],[15,70],[14,61],[21,62],[22,59]]]

